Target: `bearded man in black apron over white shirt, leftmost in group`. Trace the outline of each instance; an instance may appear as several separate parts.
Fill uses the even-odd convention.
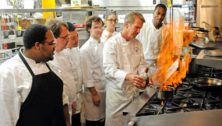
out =
[[[0,66],[1,126],[65,126],[63,82],[46,63],[54,39],[47,27],[31,25],[24,48]]]

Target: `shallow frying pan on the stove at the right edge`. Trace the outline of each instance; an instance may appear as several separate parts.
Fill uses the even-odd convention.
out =
[[[194,89],[201,91],[222,91],[222,80],[210,77],[199,77],[191,80]]]

